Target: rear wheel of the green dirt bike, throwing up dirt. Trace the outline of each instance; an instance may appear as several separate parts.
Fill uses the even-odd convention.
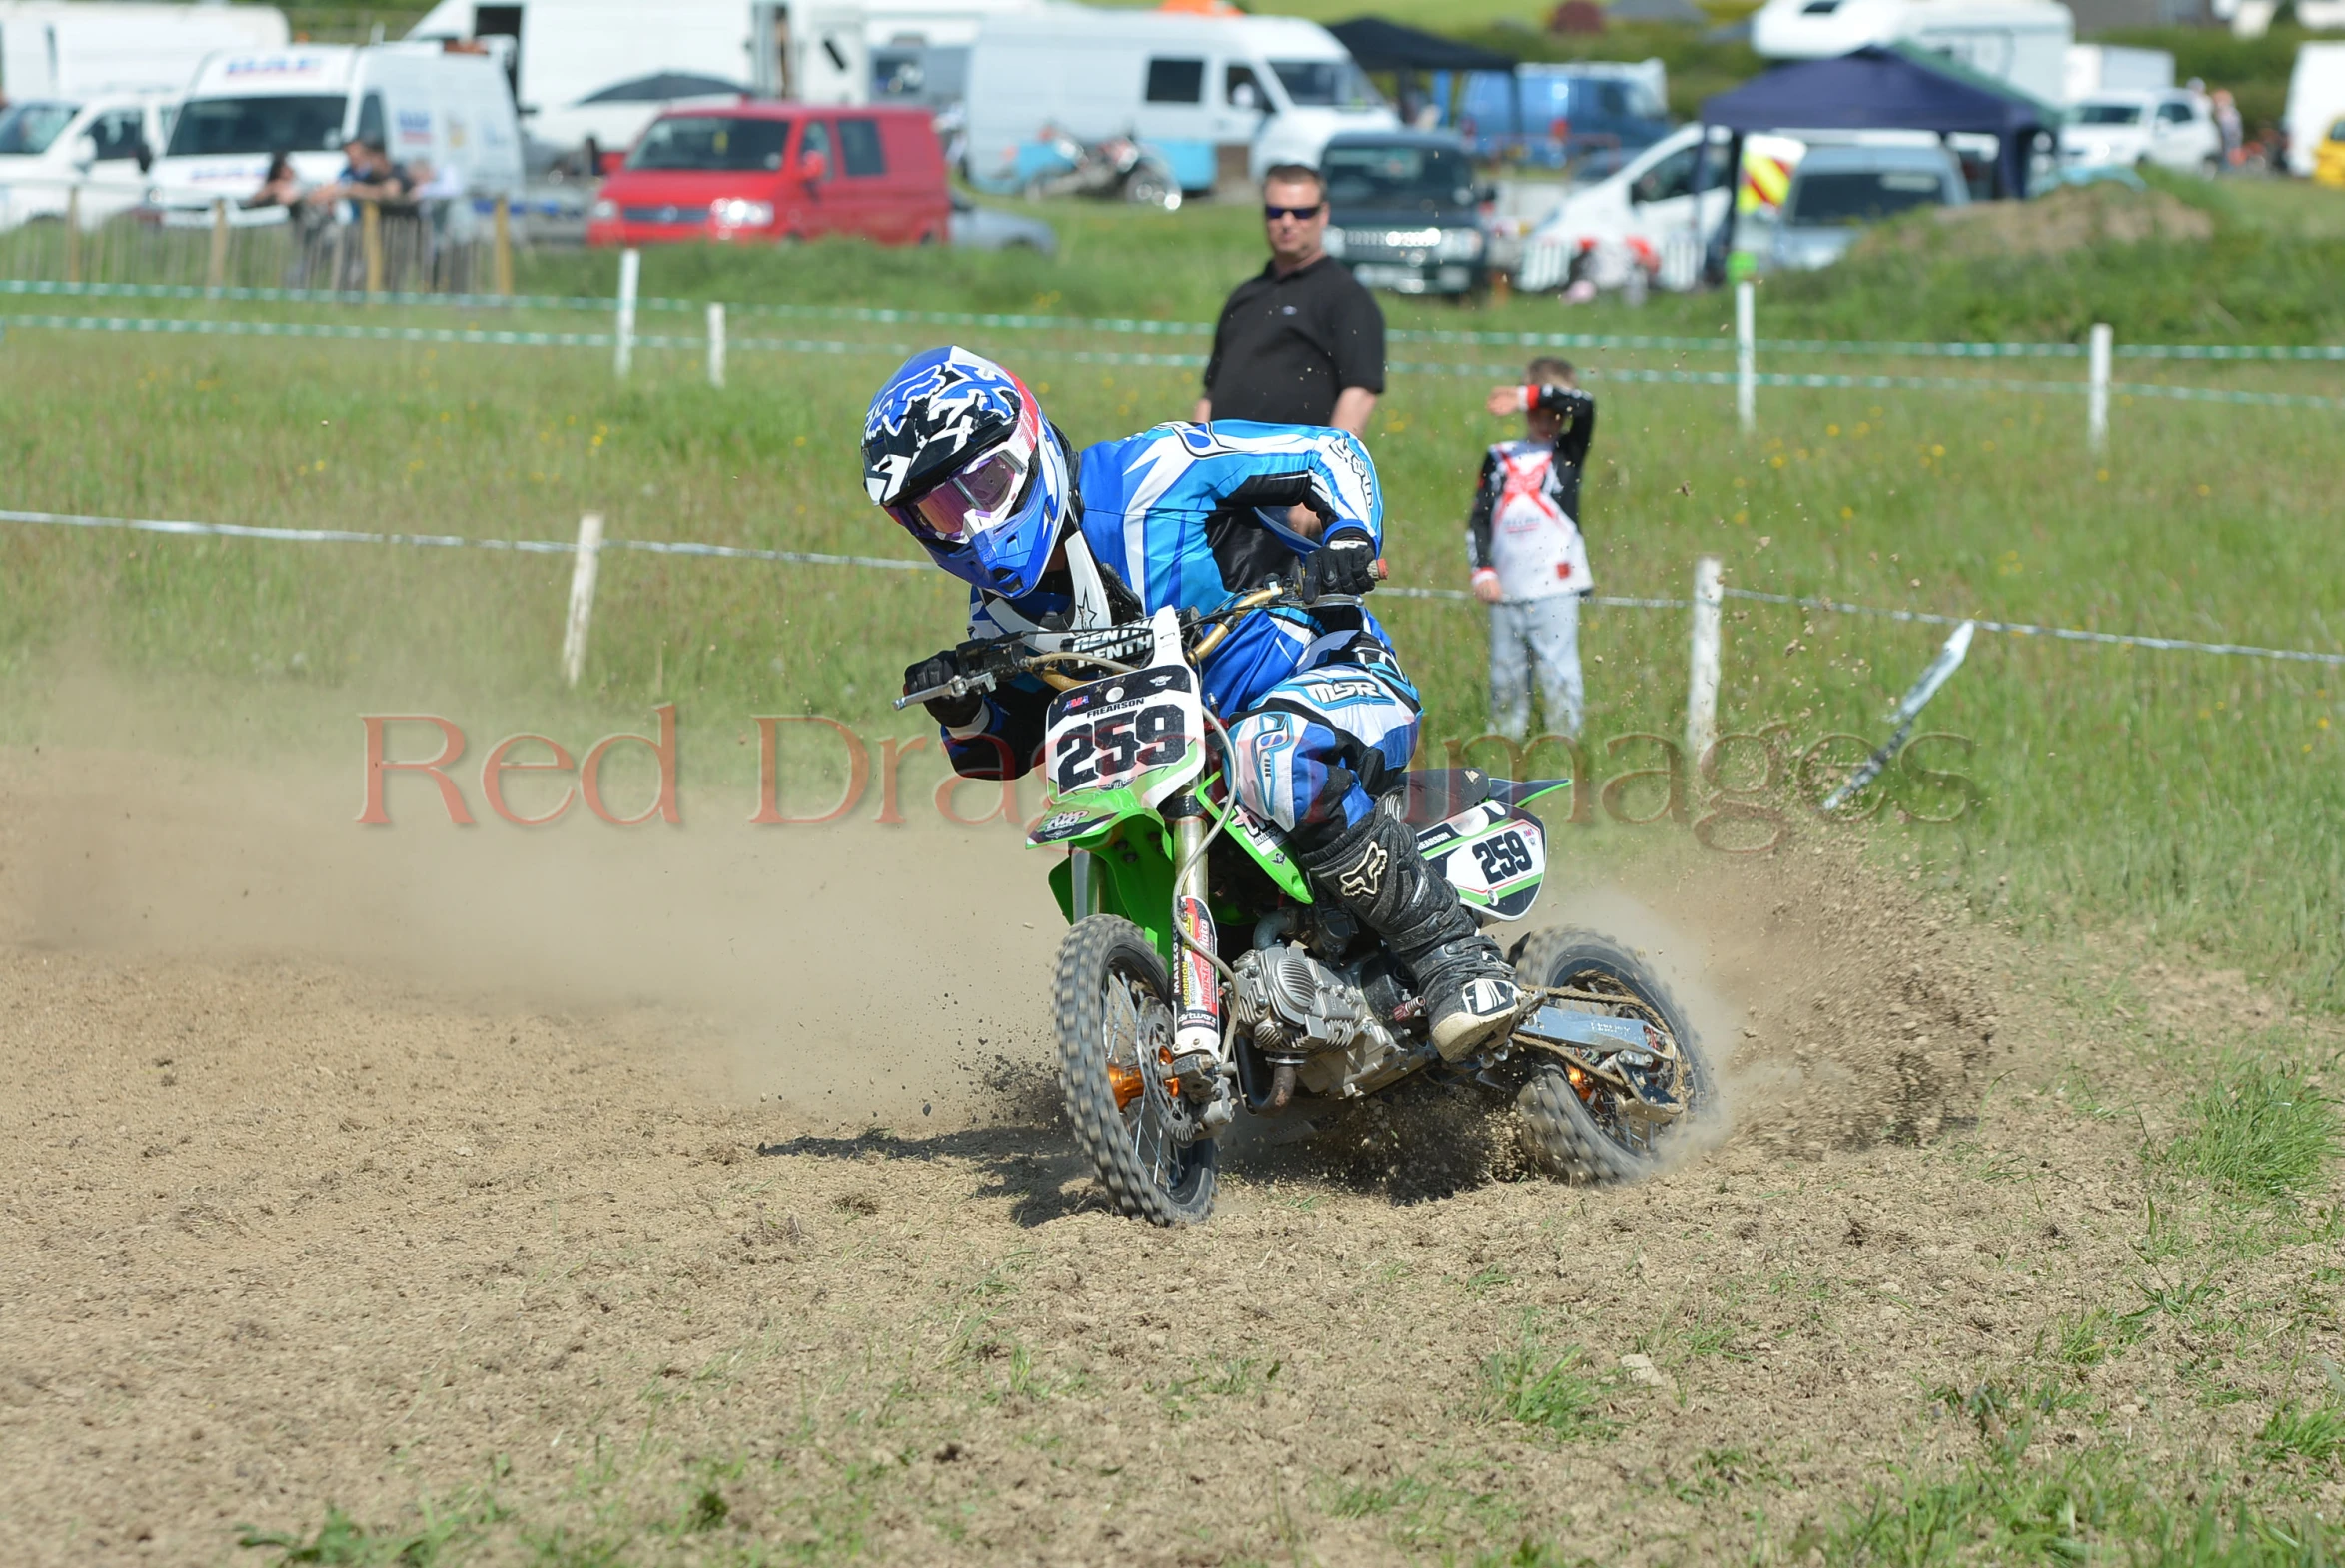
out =
[[[1515,973],[1527,984],[1578,994],[1550,1005],[1642,1017],[1658,1029],[1667,1052],[1658,1069],[1632,1080],[1649,1097],[1684,1106],[1677,1118],[1651,1120],[1634,1113],[1637,1099],[1625,1090],[1543,1052],[1534,1055],[1529,1080],[1515,1095],[1531,1158],[1550,1177],[1592,1186],[1625,1186],[1660,1174],[1674,1148],[1686,1144],[1688,1127],[1714,1106],[1710,1064],[1677,998],[1644,959],[1592,930],[1531,933],[1515,949]]]

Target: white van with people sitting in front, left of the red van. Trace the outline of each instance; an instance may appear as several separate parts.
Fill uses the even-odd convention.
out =
[[[382,141],[396,164],[462,176],[467,195],[521,195],[521,129],[497,61],[439,45],[298,45],[204,61],[155,162],[155,202],[249,197],[274,152],[305,185],[326,183],[352,136]]]

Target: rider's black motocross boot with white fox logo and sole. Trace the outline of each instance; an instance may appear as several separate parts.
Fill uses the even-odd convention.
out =
[[[1407,966],[1445,1062],[1470,1057],[1522,1013],[1515,970],[1466,914],[1456,891],[1426,865],[1407,823],[1372,811],[1358,827],[1294,834],[1287,848],[1323,895],[1341,902]]]

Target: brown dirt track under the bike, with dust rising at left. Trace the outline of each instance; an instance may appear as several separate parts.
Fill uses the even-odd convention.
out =
[[[5,783],[9,1561],[251,1561],[237,1523],[420,1500],[492,1559],[1801,1556],[1974,1451],[1932,1388],[2132,1301],[2171,1113],[2050,959],[1838,855],[1705,867],[1550,916],[1700,984],[1721,1148],[1585,1193],[1344,1123],[1149,1233],[1051,1118],[1058,930],[1008,834],[450,848],[155,759]],[[2162,1027],[2268,1008],[2106,970]],[[1573,1430],[1494,1409],[1522,1345],[1585,1348]],[[2345,1355],[2333,1308],[2307,1345]],[[2286,1392],[2179,1376],[2078,1371],[2050,1441],[2237,1453]]]

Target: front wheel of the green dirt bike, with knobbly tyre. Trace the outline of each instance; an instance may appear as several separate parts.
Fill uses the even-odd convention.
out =
[[[1093,914],[1058,949],[1058,1092],[1119,1214],[1196,1226],[1212,1214],[1219,1148],[1168,1088],[1172,987],[1121,914]]]

